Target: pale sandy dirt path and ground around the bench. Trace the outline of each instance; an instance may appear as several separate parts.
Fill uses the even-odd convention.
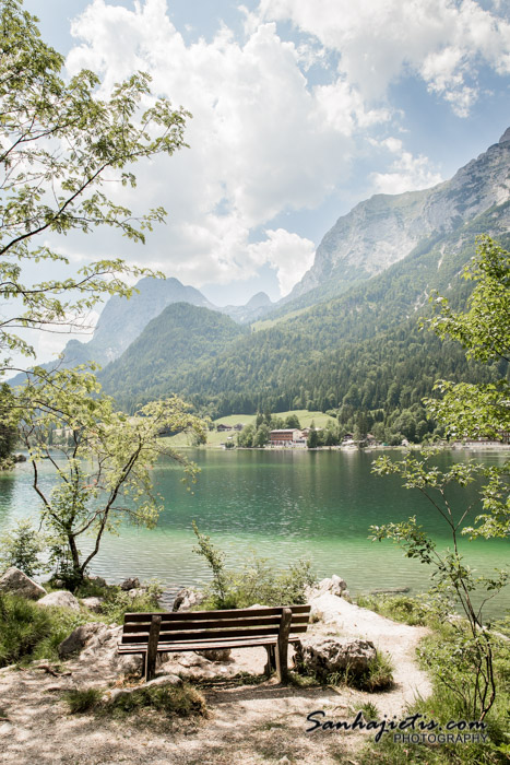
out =
[[[307,716],[323,710],[324,720],[353,720],[355,708],[366,701],[376,704],[380,719],[384,715],[402,716],[416,693],[429,693],[427,678],[414,660],[414,649],[426,629],[396,624],[331,595],[317,598],[315,604],[323,614],[323,621],[311,626],[315,633],[365,637],[391,654],[396,670],[394,688],[367,694],[349,688],[281,687],[274,680],[239,686],[228,676],[239,671],[260,673],[265,662],[264,649],[234,651],[234,662],[228,664],[180,655],[180,670],[190,678],[225,678],[223,683],[204,691],[211,709],[207,719],[112,720],[94,715],[71,716],[60,701],[62,692],[71,687],[112,684],[115,671],[107,666],[92,659],[67,662],[71,674],[59,678],[44,670],[5,669],[0,672],[0,718],[4,718],[0,719],[0,763],[356,763],[356,753],[367,733],[306,733],[311,727]]]

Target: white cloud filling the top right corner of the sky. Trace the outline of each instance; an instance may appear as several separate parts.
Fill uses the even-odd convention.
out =
[[[466,116],[481,63],[510,72],[510,23],[475,0],[261,0],[259,17],[289,20],[340,54],[339,71],[368,99],[407,72]]]

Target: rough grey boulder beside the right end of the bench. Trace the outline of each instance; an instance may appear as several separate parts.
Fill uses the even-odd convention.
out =
[[[377,656],[373,643],[359,638],[307,636],[295,649],[296,664],[316,672],[319,678],[344,670],[363,674]]]

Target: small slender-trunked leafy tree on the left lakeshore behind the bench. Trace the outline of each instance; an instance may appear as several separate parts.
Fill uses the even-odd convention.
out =
[[[50,401],[50,403],[48,403]],[[162,509],[154,493],[151,469],[167,455],[194,475],[194,467],[158,438],[166,428],[204,435],[205,424],[189,414],[180,399],[170,398],[143,407],[134,416],[116,412],[110,398],[99,395],[94,375],[83,369],[47,373],[39,369],[19,393],[21,438],[34,473],[34,489],[41,502],[45,531],[52,537],[58,576],[75,589],[102,539],[123,520],[154,527]],[[48,432],[70,432],[70,444],[49,447]],[[57,483],[48,487],[38,464],[47,460]],[[88,538],[86,552],[80,546]]]

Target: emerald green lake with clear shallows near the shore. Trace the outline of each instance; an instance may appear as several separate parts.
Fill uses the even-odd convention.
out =
[[[416,514],[440,545],[448,544],[444,521],[424,497],[402,489],[398,476],[371,474],[376,451],[189,449],[186,454],[201,469],[192,493],[181,483],[180,468],[158,462],[154,483],[165,504],[158,527],[152,531],[126,527],[119,537],[105,538],[94,574],[109,581],[157,577],[169,593],[209,580],[205,562],[193,553],[195,520],[200,531],[225,551],[228,567],[240,566],[251,553],[276,566],[308,558],[319,577],[342,576],[353,596],[393,587],[410,587],[416,593],[428,587],[427,567],[405,558],[391,542],[371,542],[369,526]],[[395,450],[389,454],[400,456]],[[444,451],[437,457],[441,467],[466,459],[497,464],[505,454]],[[54,480],[45,463],[44,481],[49,486]],[[0,532],[13,520],[37,514],[31,483],[28,463],[0,475]],[[465,495],[456,487],[452,492],[459,508]],[[475,489],[467,495],[475,499]],[[471,519],[474,515],[476,510]],[[508,565],[508,541],[463,539],[461,546],[479,573]],[[510,608],[509,590],[489,603],[487,615],[502,615]]]

